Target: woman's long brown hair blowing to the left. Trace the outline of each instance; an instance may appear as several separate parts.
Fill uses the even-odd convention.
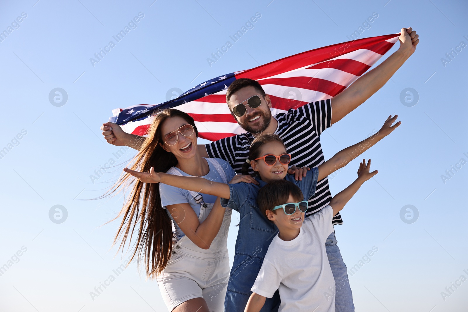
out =
[[[162,123],[176,116],[182,117],[192,125],[198,137],[192,117],[177,109],[164,109],[154,117],[148,137],[132,160],[132,170],[149,172],[149,169],[154,167],[155,172],[166,172],[170,167],[177,165],[174,154],[166,152],[161,146],[164,144],[163,133],[161,133]],[[132,187],[132,193],[117,217],[113,219],[123,217],[115,235],[114,244],[121,238],[119,250],[122,248],[123,251],[126,244],[130,247],[132,236],[138,225],[132,259],[129,263],[137,256],[139,264],[140,261],[145,263],[146,276],[151,278],[160,273],[168,264],[172,252],[171,219],[167,211],[161,207],[159,183],[143,183],[131,174],[125,174],[109,192],[112,193],[121,186]]]

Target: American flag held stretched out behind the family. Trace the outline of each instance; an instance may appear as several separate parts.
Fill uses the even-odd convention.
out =
[[[249,70],[205,81],[175,99],[156,105],[139,104],[114,109],[109,118],[127,133],[145,135],[158,109],[176,108],[195,120],[199,137],[211,141],[245,132],[226,104],[227,87],[236,79],[257,80],[272,102],[272,115],[309,102],[334,97],[374,65],[396,43],[400,34],[333,44]]]

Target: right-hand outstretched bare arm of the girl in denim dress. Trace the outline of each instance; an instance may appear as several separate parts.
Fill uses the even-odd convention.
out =
[[[395,115],[393,117],[390,115],[383,124],[382,128],[380,128],[379,132],[374,134],[372,137],[366,138],[365,140],[355,145],[346,147],[344,150],[337,152],[335,156],[318,166],[319,176],[317,180],[320,181],[329,174],[332,174],[333,172],[338,170],[339,168],[343,168],[351,160],[355,159],[363,152],[366,152],[369,149],[369,147],[371,147],[375,143],[379,142],[382,138],[385,138],[390,133],[392,133],[392,131],[394,131],[401,124],[401,122],[399,121],[392,126],[392,124],[396,121],[397,117],[398,115]]]

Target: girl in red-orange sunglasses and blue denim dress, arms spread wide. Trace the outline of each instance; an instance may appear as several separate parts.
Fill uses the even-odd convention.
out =
[[[235,245],[234,264],[227,285],[225,311],[243,311],[252,293],[250,289],[255,282],[268,246],[277,231],[277,227],[264,218],[258,209],[256,203],[258,190],[269,181],[285,179],[295,183],[305,199],[310,198],[315,191],[317,181],[344,167],[395,130],[401,124],[398,122],[392,126],[395,119],[388,117],[378,133],[336,153],[330,160],[313,168],[312,174],[307,174],[302,181],[296,181],[293,175],[286,176],[291,156],[287,154],[281,139],[274,134],[262,134],[255,138],[250,146],[249,161],[244,165],[245,170],[248,170],[249,166],[252,167],[259,185],[253,183],[223,184],[197,177],[156,173],[153,167],[149,172],[136,172],[127,168],[124,168],[124,171],[147,183],[162,182],[190,190],[201,189],[206,194],[221,197],[223,207],[239,211],[239,234]],[[229,199],[225,200],[227,198]],[[278,306],[277,291],[272,298],[266,299],[261,311],[277,311]]]

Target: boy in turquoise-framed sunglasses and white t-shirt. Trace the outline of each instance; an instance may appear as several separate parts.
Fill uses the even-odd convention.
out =
[[[377,174],[369,172],[370,165],[371,160],[367,164],[363,160],[356,181],[305,220],[307,201],[293,183],[272,181],[260,189],[259,209],[278,227],[279,233],[265,255],[245,312],[260,311],[265,298],[272,297],[277,289],[281,298],[278,312],[335,311],[335,280],[325,240],[333,232],[333,216],[365,181]]]

